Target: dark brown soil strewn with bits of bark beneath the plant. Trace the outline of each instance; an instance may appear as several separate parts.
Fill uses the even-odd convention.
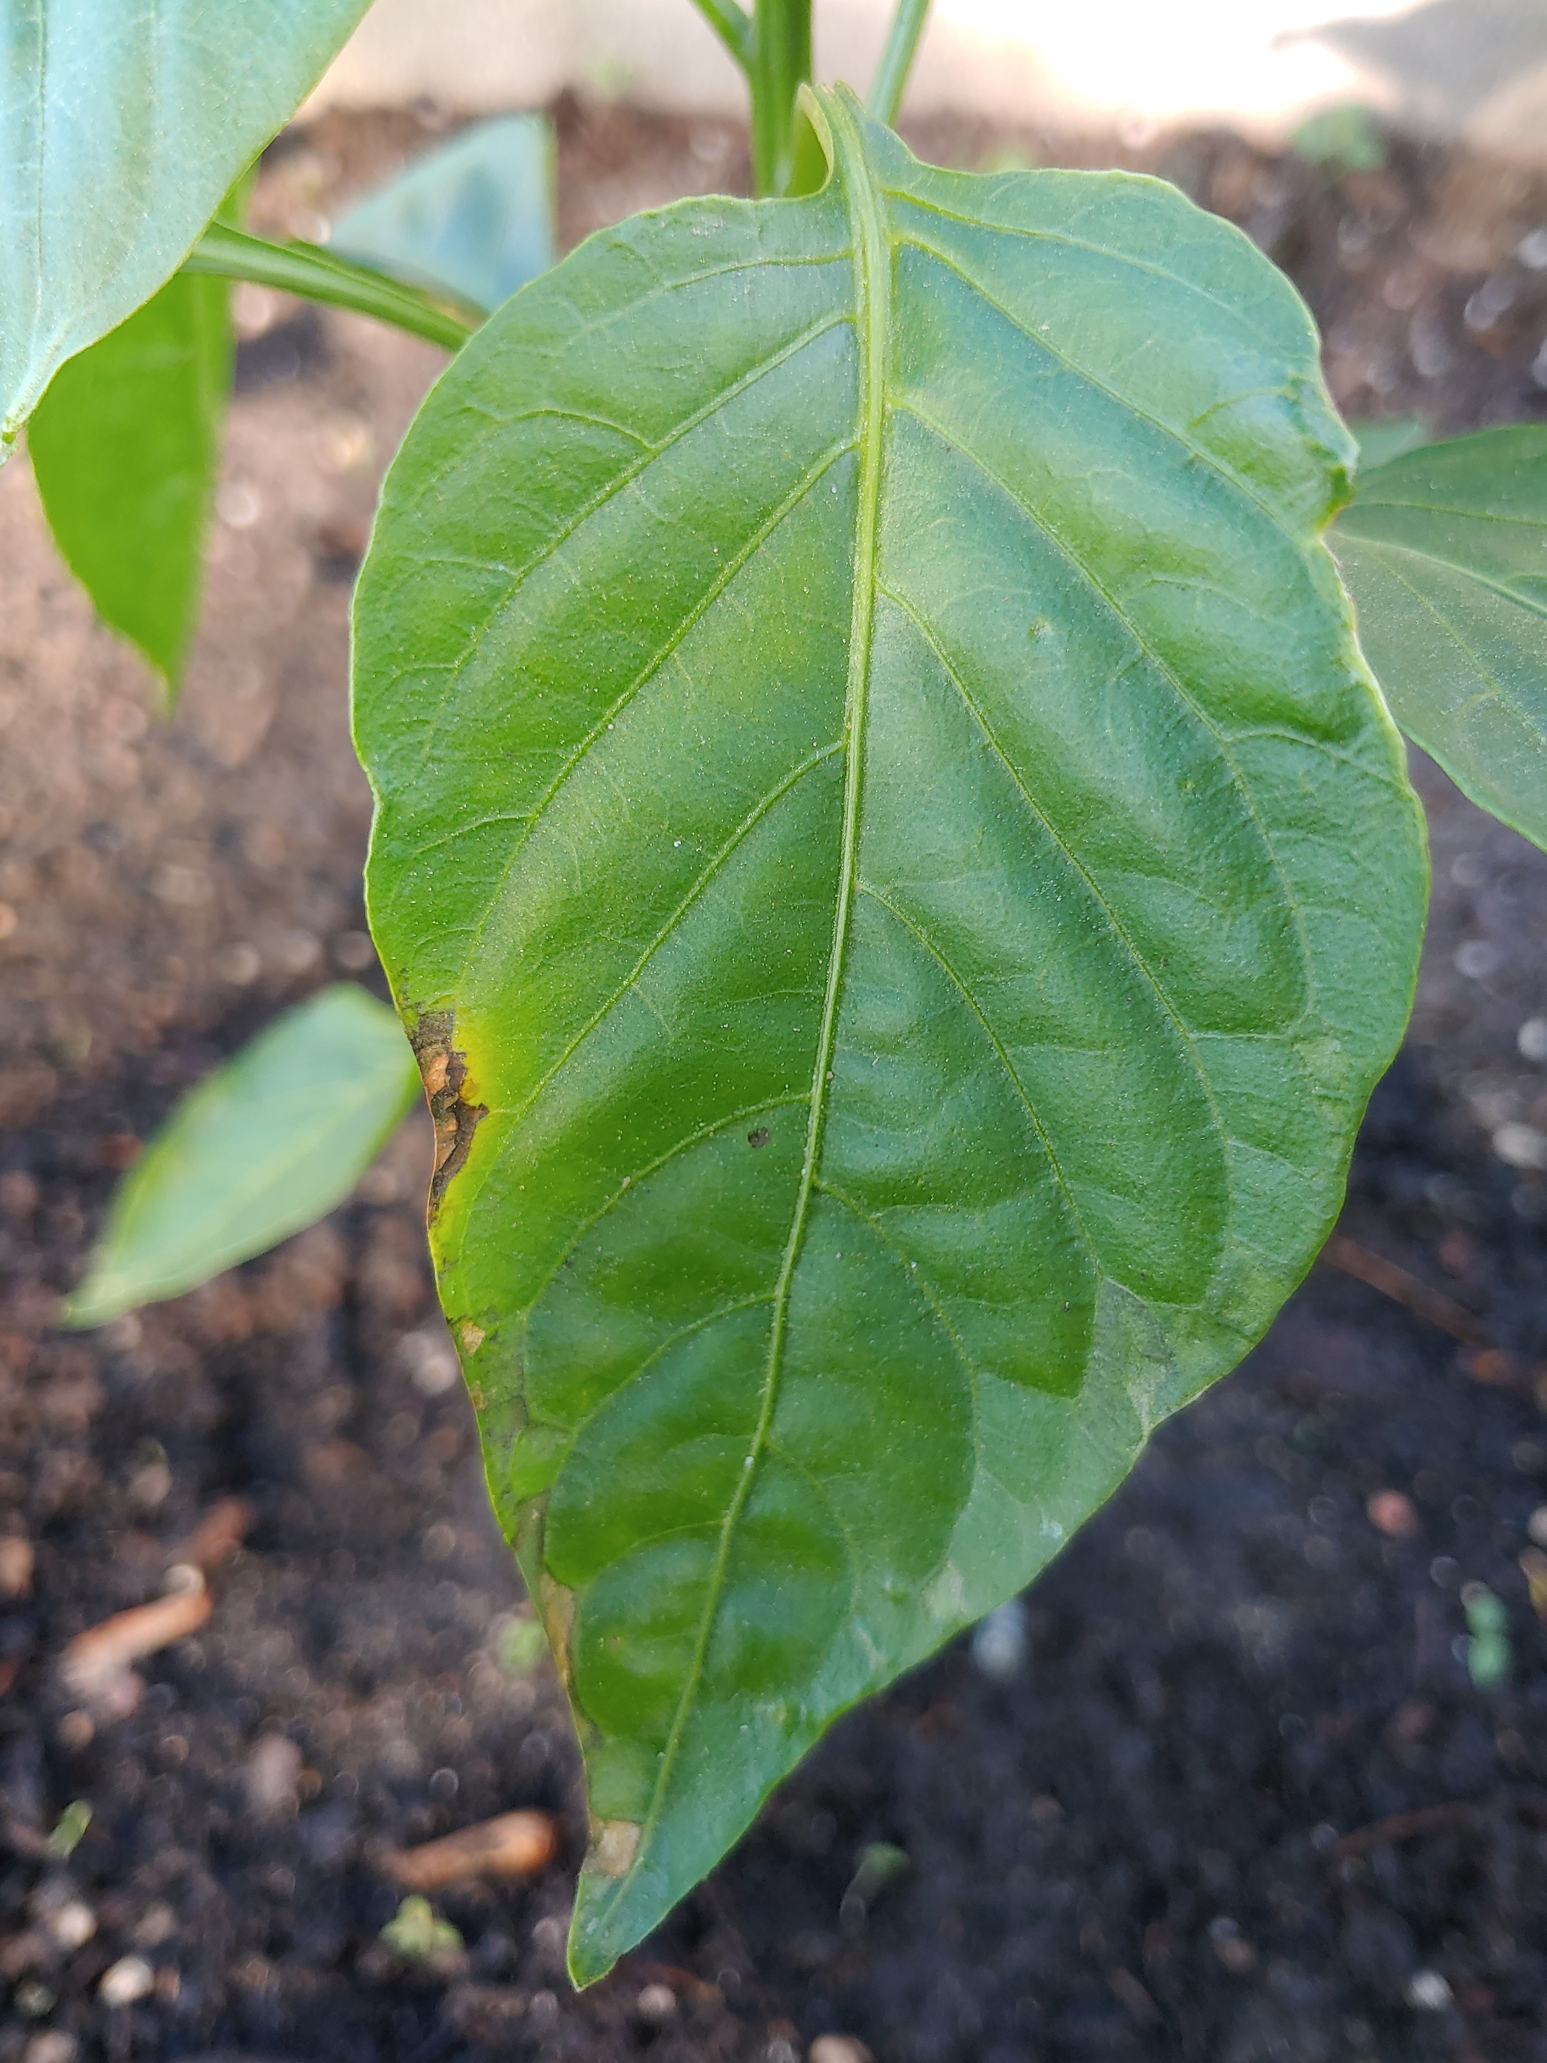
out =
[[[425,122],[285,138],[262,221],[305,229]],[[712,124],[567,107],[561,136],[569,237],[745,177],[743,138]],[[1335,182],[1221,136],[1124,153],[936,124],[916,142],[1178,177],[1302,283],[1353,415],[1460,429],[1547,400],[1547,270],[1514,256],[1547,221],[1526,173],[1403,144]],[[1524,1139],[1528,1159],[1547,1133],[1547,1071],[1518,1048],[1547,1013],[1547,856],[1431,767],[1419,1011],[1343,1232],[1477,1337],[1316,1269],[1019,1619],[840,1725],[584,1997],[563,1980],[578,1762],[446,1386],[423,1126],[278,1254],[85,1339],[52,1329],[173,1095],[328,974],[375,980],[344,613],[380,466],[439,361],[252,293],[241,322],[175,724],[146,720],[54,563],[25,466],[0,474],[0,2063],[796,2063],[821,2034],[895,2063],[1547,2059],[1547,1636],[1526,1582],[1547,1568],[1547,1186],[1495,1151]],[[134,1710],[93,1714],[64,1644],[155,1597],[229,1496],[252,1529],[212,1617],[138,1665]],[[1473,1681],[1467,1584],[1508,1613],[1493,1688]],[[91,1826],[50,1857],[76,1799]],[[441,1896],[460,1952],[384,1945],[384,1851],[518,1805],[561,1818],[555,1865]],[[866,1898],[875,1842],[908,1871]],[[107,2003],[140,1989],[124,1958],[149,1989]]]

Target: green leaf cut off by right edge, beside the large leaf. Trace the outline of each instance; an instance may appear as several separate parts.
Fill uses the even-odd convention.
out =
[[[1361,472],[1330,545],[1401,728],[1547,846],[1547,427]]]

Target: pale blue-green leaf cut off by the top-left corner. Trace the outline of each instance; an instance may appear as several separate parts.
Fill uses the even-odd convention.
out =
[[[0,456],[188,254],[367,0],[0,0]]]

